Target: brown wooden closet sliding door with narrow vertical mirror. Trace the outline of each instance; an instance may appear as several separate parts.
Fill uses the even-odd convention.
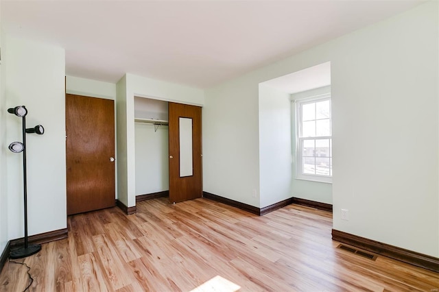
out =
[[[180,146],[180,136],[184,136],[180,133],[180,126],[188,129],[189,125],[192,127],[192,140],[189,141],[192,157],[183,151],[189,149],[187,144]],[[183,132],[189,135],[186,130]],[[189,160],[191,167],[188,166]],[[169,102],[169,202],[197,197],[202,197],[201,108]]]

